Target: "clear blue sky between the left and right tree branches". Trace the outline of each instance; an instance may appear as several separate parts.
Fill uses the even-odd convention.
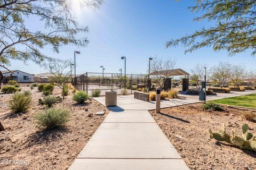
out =
[[[219,61],[243,63],[247,67],[255,67],[256,58],[250,52],[229,57],[226,51],[213,52],[212,48],[199,49],[193,53],[184,54],[186,48],[165,48],[165,43],[171,38],[179,38],[187,33],[208,27],[213,23],[207,21],[195,22],[197,13],[191,13],[187,7],[194,1],[175,2],[156,0],[106,0],[99,10],[76,10],[77,21],[89,27],[86,36],[90,43],[85,48],[65,46],[59,54],[51,48],[43,49],[43,53],[62,59],[74,59],[74,50],[81,54],[76,57],[77,73],[119,72],[124,68],[121,56],[126,56],[126,73],[145,73],[148,57],[175,57],[177,68],[189,71],[197,63],[217,64]],[[31,22],[33,21],[33,22]],[[42,28],[42,24],[31,18],[31,29]],[[46,72],[33,62],[27,65],[12,61],[12,70],[28,73]]]

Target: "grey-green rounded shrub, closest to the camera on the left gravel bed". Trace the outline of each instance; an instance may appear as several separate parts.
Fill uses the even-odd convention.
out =
[[[48,108],[39,112],[35,116],[35,123],[39,129],[52,130],[65,125],[70,120],[70,114],[67,109]]]

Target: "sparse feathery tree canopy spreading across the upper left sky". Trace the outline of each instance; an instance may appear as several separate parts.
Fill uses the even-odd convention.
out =
[[[11,60],[41,63],[51,58],[41,52],[52,47],[58,53],[64,45],[85,47],[83,37],[87,27],[78,25],[72,15],[75,0],[1,0],[0,1],[0,70],[8,69]],[[79,1],[81,7],[98,8],[103,1]],[[44,27],[31,29],[29,19],[33,18]],[[31,25],[31,22],[30,22]],[[10,71],[10,70],[9,70]],[[0,71],[0,89],[4,77]],[[0,122],[0,131],[3,130]]]

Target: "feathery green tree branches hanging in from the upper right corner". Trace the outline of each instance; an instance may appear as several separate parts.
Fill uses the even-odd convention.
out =
[[[230,55],[247,49],[252,50],[252,55],[256,53],[256,1],[197,0],[189,10],[202,13],[195,21],[215,21],[215,24],[167,41],[167,48],[183,44],[187,47],[185,53],[209,46],[214,51],[227,50]]]

